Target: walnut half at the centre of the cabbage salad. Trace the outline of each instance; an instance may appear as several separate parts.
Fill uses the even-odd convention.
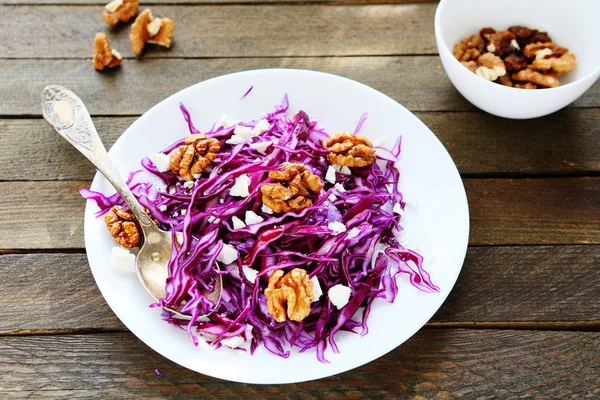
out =
[[[269,172],[276,183],[260,188],[263,204],[277,214],[312,206],[312,194],[323,189],[321,178],[311,174],[304,164],[284,163],[283,167]]]

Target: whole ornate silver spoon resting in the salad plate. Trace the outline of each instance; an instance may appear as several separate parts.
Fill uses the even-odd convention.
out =
[[[135,262],[138,278],[156,301],[164,298],[173,244],[171,233],[156,227],[142,210],[110,160],[87,108],[75,93],[58,85],[46,86],[42,91],[42,115],[63,138],[98,168],[127,203],[142,228],[144,238]],[[218,264],[215,268],[219,269]],[[221,301],[221,288],[221,275],[217,274],[214,290],[203,294],[217,305]],[[191,319],[188,314],[167,309],[181,318]]]

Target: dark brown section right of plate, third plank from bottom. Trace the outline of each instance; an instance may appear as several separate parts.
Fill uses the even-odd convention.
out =
[[[464,183],[472,243],[600,243],[600,177]]]

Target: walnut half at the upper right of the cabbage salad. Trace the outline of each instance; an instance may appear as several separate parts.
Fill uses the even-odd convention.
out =
[[[323,140],[323,148],[331,152],[327,154],[329,162],[342,167],[366,167],[376,159],[373,145],[363,135],[336,132]]]

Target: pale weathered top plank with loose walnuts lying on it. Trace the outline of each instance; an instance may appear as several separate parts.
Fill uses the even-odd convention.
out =
[[[144,57],[257,57],[434,54],[435,4],[152,6],[175,22],[171,49]],[[143,9],[143,6],[142,6]],[[6,6],[0,55],[91,58],[96,32],[133,57],[129,27],[109,28],[101,6]],[[40,32],[44,34],[41,35]],[[65,40],[67,39],[68,40]]]

